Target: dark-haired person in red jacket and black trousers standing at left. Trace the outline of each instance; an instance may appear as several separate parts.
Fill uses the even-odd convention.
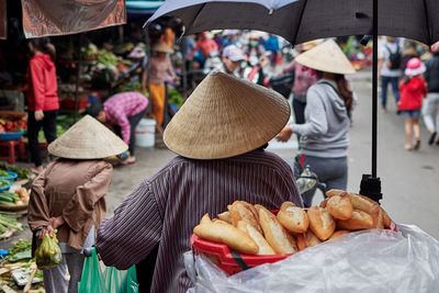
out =
[[[34,171],[43,171],[38,133],[43,128],[47,144],[56,139],[56,115],[59,109],[55,47],[47,37],[29,43],[32,58],[27,69],[27,138]]]

